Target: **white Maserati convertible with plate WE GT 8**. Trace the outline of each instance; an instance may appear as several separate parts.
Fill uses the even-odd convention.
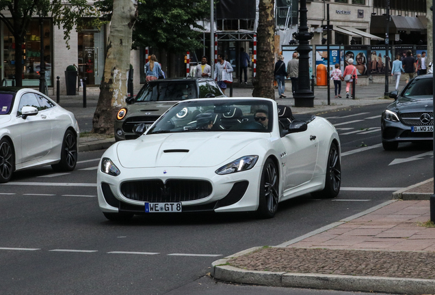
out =
[[[315,193],[336,197],[340,140],[327,120],[267,98],[185,100],[144,135],[111,145],[97,174],[107,219],[165,212],[256,211]],[[143,133],[144,124],[135,132]]]

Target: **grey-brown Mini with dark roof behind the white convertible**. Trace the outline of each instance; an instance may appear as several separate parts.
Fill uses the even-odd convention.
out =
[[[150,127],[158,117],[179,100],[226,97],[209,78],[161,79],[146,83],[127,107],[120,109],[115,121],[115,140],[136,139],[135,124]]]

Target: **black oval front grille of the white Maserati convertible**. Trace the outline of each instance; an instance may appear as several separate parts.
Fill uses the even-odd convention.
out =
[[[213,188],[206,180],[136,180],[123,182],[121,193],[127,199],[150,203],[194,201],[211,195]]]

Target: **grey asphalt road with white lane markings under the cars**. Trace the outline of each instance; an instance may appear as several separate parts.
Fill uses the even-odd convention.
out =
[[[342,191],[332,200],[305,195],[280,203],[269,220],[183,214],[111,223],[96,201],[103,151],[80,153],[72,173],[20,171],[0,186],[0,294],[353,294],[230,285],[206,274],[220,257],[281,244],[431,178],[432,145],[382,149],[385,106],[322,114],[339,130]]]

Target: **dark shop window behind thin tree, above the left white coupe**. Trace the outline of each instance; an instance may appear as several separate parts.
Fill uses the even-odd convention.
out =
[[[52,85],[52,55],[51,55],[51,20],[44,20],[43,25],[44,34],[42,36],[44,46],[45,62],[45,79],[47,85]],[[21,64],[23,64],[23,86],[37,86],[39,85],[39,72],[41,64],[41,36],[40,36],[40,22],[39,19],[31,20],[29,29],[26,32],[25,42],[23,43],[23,57]],[[15,56],[15,38],[10,33],[8,27],[3,25],[3,76],[10,80],[15,76],[15,64],[17,62]],[[10,85],[10,82],[8,82]]]

